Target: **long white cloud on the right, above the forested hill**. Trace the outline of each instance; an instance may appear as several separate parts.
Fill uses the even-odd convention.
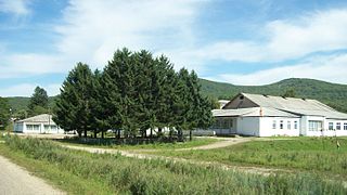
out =
[[[347,10],[271,21],[255,34],[265,40],[213,42],[201,48],[189,48],[184,53],[200,61],[281,62],[314,52],[346,49]]]

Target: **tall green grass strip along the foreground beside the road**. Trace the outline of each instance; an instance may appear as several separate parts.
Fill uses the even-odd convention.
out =
[[[7,139],[5,144],[0,144],[0,152],[20,165],[29,162],[29,170],[72,194],[85,194],[88,190],[91,191],[87,194],[347,193],[342,183],[323,181],[310,174],[265,177],[215,166],[89,154],[62,148],[47,140]],[[62,181],[66,185],[62,185]],[[76,190],[78,182],[87,185],[78,187],[88,190]]]

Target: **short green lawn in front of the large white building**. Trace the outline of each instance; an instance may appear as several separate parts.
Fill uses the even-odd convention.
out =
[[[291,138],[253,141],[208,151],[159,151],[155,154],[228,165],[280,167],[347,178],[347,138]]]

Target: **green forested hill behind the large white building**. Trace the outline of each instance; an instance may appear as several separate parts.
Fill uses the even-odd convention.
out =
[[[293,89],[297,98],[316,99],[338,110],[347,113],[347,84],[337,84],[313,79],[291,78],[265,86],[234,86],[201,79],[204,94],[230,100],[240,92],[283,95]]]

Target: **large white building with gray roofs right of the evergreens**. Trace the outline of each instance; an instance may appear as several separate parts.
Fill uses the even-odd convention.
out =
[[[316,100],[240,93],[213,114],[217,134],[347,135],[347,114]]]

